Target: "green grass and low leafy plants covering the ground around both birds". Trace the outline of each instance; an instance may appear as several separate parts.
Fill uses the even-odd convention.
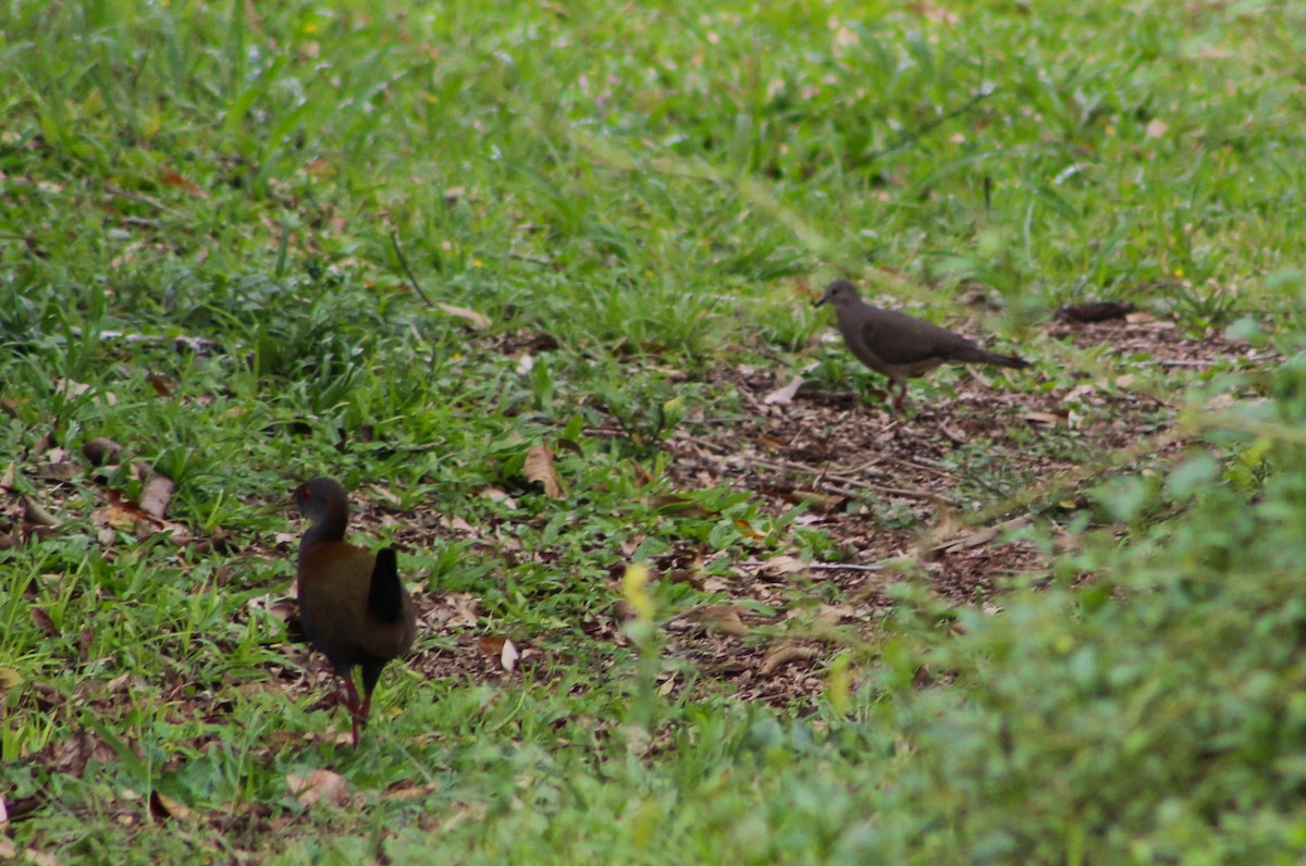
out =
[[[9,4],[0,533],[22,538],[0,550],[0,853],[1298,859],[1306,162],[1301,84],[1272,71],[1306,16],[483,5]],[[428,306],[400,251],[488,329]],[[1043,460],[1101,472],[1036,498],[1064,532],[1028,530],[1046,564],[1000,614],[901,580],[823,644],[816,686],[742,700],[670,647],[666,620],[722,593],[620,577],[687,550],[679,568],[727,585],[849,554],[806,507],[686,485],[667,448],[746,443],[755,409],[722,371],[824,361],[824,387],[880,384],[818,340],[808,302],[836,274],[936,320],[981,299],[1038,359],[991,377],[1019,400],[1132,375],[1107,389],[1182,409],[1152,423],[1187,451],[1105,445],[1117,404],[1087,398],[1080,435],[948,448],[968,508],[1037,489]],[[1289,359],[1162,376],[1147,347],[1041,329],[1084,299],[1194,336],[1242,319]],[[921,411],[963,381],[913,384]],[[1209,408],[1230,393],[1267,398]],[[98,436],[131,462],[88,465]],[[542,441],[560,499],[524,475]],[[175,482],[193,543],[106,522],[106,491],[141,494],[133,462]],[[398,543],[427,598],[478,603],[392,666],[358,752],[273,610],[287,492],[315,474],[370,503],[358,532]],[[33,530],[21,495],[60,525]],[[858,508],[872,533],[934,521],[838,519]],[[623,624],[619,601],[652,613]],[[782,615],[821,602],[849,598],[811,580],[751,600],[778,622],[739,652],[815,628]],[[524,674],[461,670],[481,633],[532,648]],[[289,780],[321,769],[346,794],[308,806]]]

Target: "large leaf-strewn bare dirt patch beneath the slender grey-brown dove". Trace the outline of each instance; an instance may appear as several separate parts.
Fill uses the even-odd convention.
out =
[[[804,623],[799,632],[844,628],[863,639],[892,603],[887,590],[897,580],[925,581],[949,603],[991,605],[1008,579],[1037,576],[1046,567],[1030,542],[1010,538],[1008,530],[1030,521],[1030,502],[1055,526],[1050,494],[1079,504],[1085,483],[1155,464],[1183,447],[1169,427],[1173,394],[1145,391],[1143,374],[1273,361],[1222,337],[1192,337],[1147,313],[1057,321],[1046,334],[1075,349],[1110,346],[1105,370],[1050,387],[1042,387],[1047,376],[1037,366],[1010,374],[936,371],[934,376],[953,383],[955,396],[914,380],[901,417],[887,400],[865,401],[852,389],[803,385],[791,400],[781,393],[777,401],[772,396],[793,385],[788,372],[721,370],[712,384],[738,393],[743,417],[704,419],[670,439],[675,460],[669,473],[677,486],[744,489],[774,513],[807,502],[804,521],[835,538],[842,555],[786,575],[778,588],[765,563],[746,563],[717,586],[724,605],[778,606],[778,619]],[[1007,376],[1024,387],[1012,391]],[[803,589],[785,592],[788,585]],[[827,601],[815,609],[795,603],[804,593]],[[712,622],[673,624],[670,649],[727,682],[741,699],[810,707],[842,643],[767,637],[767,624],[747,633]],[[776,664],[777,652],[784,664]]]

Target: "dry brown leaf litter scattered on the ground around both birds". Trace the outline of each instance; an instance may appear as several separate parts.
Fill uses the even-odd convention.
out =
[[[1046,333],[1068,345],[1110,342],[1121,357],[1145,358],[1132,364],[1140,372],[1148,366],[1228,363],[1237,368],[1267,359],[1246,346],[1220,337],[1191,337],[1171,323],[1139,313],[1087,324],[1053,323]],[[552,347],[547,340],[529,334],[487,338],[507,340],[504,351]],[[852,363],[848,368],[853,368]],[[1021,375],[1037,376],[1037,367]],[[832,539],[832,555],[824,562],[807,560],[797,550],[768,547],[760,534],[741,528],[747,550],[734,551],[735,558],[722,571],[717,559],[731,553],[705,553],[699,541],[673,539],[670,550],[652,558],[653,576],[688,583],[703,593],[703,601],[687,605],[679,614],[662,611],[665,652],[704,675],[667,677],[660,681],[660,691],[679,695],[684,688],[724,690],[742,700],[807,712],[811,698],[831,687],[827,667],[845,647],[845,636],[874,635],[878,619],[892,605],[888,593],[892,583],[923,581],[946,603],[1000,610],[994,601],[1000,598],[1004,581],[1023,572],[1037,575],[1046,563],[1033,543],[1019,538],[1019,530],[1030,520],[1020,505],[999,508],[981,520],[976,516],[1028,485],[1068,479],[1063,486],[1074,499],[1076,485],[1092,479],[1076,475],[1081,473],[1084,455],[1124,453],[1122,449],[1140,441],[1147,444],[1158,430],[1165,431],[1170,409],[1155,397],[1131,391],[1131,381],[1122,384],[1122,376],[1132,374],[1126,371],[1104,383],[1085,372],[1075,387],[1023,391],[1004,388],[1000,375],[983,371],[936,375],[938,381],[930,387],[913,383],[909,411],[896,417],[883,404],[859,398],[852,381],[846,391],[821,391],[812,388],[811,381],[799,388],[793,376],[768,370],[716,367],[705,384],[735,393],[744,411],[721,423],[686,422],[665,439],[663,490],[646,498],[646,503],[669,517],[722,520],[712,505],[695,498],[696,491],[721,487],[746,491],[772,516],[798,508],[794,525],[825,533]],[[69,387],[69,392],[74,393],[76,387]],[[768,402],[768,396],[777,393],[780,398]],[[46,439],[14,455],[5,472],[0,537],[22,543],[31,534],[63,532],[67,521],[85,507],[78,491],[89,490],[97,503],[94,520],[101,526],[102,546],[125,543],[128,539],[119,533],[145,537],[165,530],[178,556],[184,559],[184,551],[192,546],[217,543],[196,538],[189,528],[166,520],[171,482],[148,468],[131,466],[145,482],[137,503],[101,486],[107,477],[102,465],[120,457],[121,447],[116,443],[97,441],[85,455],[95,474],[78,472],[63,479],[61,473],[51,475],[38,469],[42,464],[68,460],[67,455],[48,460]],[[1156,451],[1130,456],[1123,462],[1164,458],[1181,445],[1177,436],[1155,440]],[[1068,441],[1077,443],[1077,449],[1067,447]],[[569,449],[571,443],[558,440],[556,445]],[[541,441],[528,452],[524,474],[546,496],[563,495],[554,452],[547,444]],[[22,483],[14,487],[20,475]],[[653,481],[649,475],[645,483]],[[353,529],[360,538],[371,537],[384,520],[401,550],[461,539],[473,543],[473,550],[504,558],[505,563],[550,556],[547,550],[521,550],[520,545],[512,549],[512,539],[500,534],[499,519],[474,524],[440,513],[434,503],[400,512],[398,499],[388,490],[372,494],[385,515],[364,503]],[[513,498],[502,489],[486,487],[482,495],[516,508]],[[268,545],[243,550],[242,556],[285,560],[296,541],[294,532],[278,533]],[[406,577],[413,580],[418,575],[410,572]],[[293,581],[283,576],[272,581],[277,589],[251,600],[236,617],[293,620],[293,602],[282,592]],[[503,633],[505,623],[492,622],[474,593],[414,589],[418,589],[414,600],[421,639],[405,664],[424,679],[547,682],[555,666],[571,664],[569,653],[550,647],[549,635],[529,635],[525,643],[508,639]],[[596,611],[573,623],[567,641],[584,635],[599,644],[627,645],[622,623],[629,611],[622,609],[619,571],[614,571],[611,598],[607,613]],[[35,615],[42,614],[46,611]],[[38,620],[42,628],[51,624]],[[511,623],[507,626],[511,631]],[[269,681],[256,686],[300,696],[323,688],[330,671],[324,665],[312,666],[312,657],[307,647],[286,644],[285,664],[269,666]],[[26,690],[20,705],[44,705],[44,712],[63,714],[72,712],[60,709],[69,701],[81,707],[121,701],[131,681],[89,683],[89,691],[77,690],[72,695],[21,681],[14,683],[13,678],[4,682],[7,688]],[[184,686],[178,679],[168,698],[179,712],[191,694]],[[214,703],[212,696],[204,696],[204,690],[191,700],[199,701],[195,712],[202,718],[219,721],[230,712],[230,701]],[[31,758],[80,775],[89,760],[104,762],[115,755],[95,733],[82,730],[52,741]],[[302,802],[347,797],[347,790],[329,777],[287,778],[287,789]],[[163,799],[151,806],[172,818],[185,814],[180,805]],[[12,818],[13,803],[9,807]],[[242,820],[265,822],[266,815],[249,814]]]

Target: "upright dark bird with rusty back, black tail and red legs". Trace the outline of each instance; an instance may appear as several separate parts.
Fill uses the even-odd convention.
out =
[[[372,709],[387,662],[407,653],[417,633],[413,597],[400,583],[393,547],[375,555],[345,541],[349,494],[332,478],[313,478],[293,494],[310,525],[299,543],[299,618],[308,643],[343,681],[354,748]],[[363,673],[363,699],[354,686]],[[338,695],[338,692],[337,692]]]

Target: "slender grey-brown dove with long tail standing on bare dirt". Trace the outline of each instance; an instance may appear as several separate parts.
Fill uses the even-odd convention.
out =
[[[896,310],[882,310],[862,300],[857,287],[846,280],[836,280],[825,287],[814,307],[833,304],[844,342],[863,364],[889,377],[899,385],[893,411],[902,411],[906,398],[906,380],[921,376],[939,364],[960,363],[996,364],[1021,370],[1029,362],[1016,355],[999,355],[981,349],[970,340],[947,328],[909,316]]]

